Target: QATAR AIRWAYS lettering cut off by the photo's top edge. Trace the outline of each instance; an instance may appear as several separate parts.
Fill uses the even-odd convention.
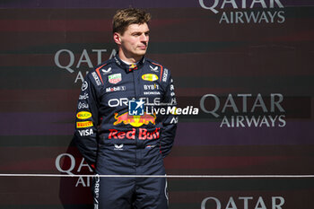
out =
[[[220,15],[219,23],[283,23],[281,0],[198,0],[202,8]],[[260,8],[260,9],[257,9]],[[222,12],[222,13],[221,13]]]

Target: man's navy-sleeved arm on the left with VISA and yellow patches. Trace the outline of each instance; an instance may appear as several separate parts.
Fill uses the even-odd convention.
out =
[[[99,101],[94,79],[87,74],[77,103],[74,142],[85,160],[96,164],[98,150],[97,126],[99,123]]]

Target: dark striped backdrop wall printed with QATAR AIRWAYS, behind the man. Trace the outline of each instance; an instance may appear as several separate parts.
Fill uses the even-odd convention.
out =
[[[148,57],[179,106],[176,175],[314,174],[310,0],[0,2],[0,173],[90,174],[72,144],[82,78],[118,8],[153,14]],[[203,100],[202,100],[203,98]],[[90,179],[1,177],[0,208],[89,208]],[[171,209],[314,208],[314,179],[169,179]],[[202,206],[203,203],[203,206]]]

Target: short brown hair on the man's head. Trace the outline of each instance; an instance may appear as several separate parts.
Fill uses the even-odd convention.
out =
[[[121,35],[130,24],[143,24],[150,22],[152,15],[144,10],[128,8],[118,10],[113,16],[112,33],[118,32]]]

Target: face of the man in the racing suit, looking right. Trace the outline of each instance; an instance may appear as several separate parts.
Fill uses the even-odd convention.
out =
[[[138,59],[144,56],[149,41],[149,28],[146,23],[130,24],[123,35],[118,36],[120,47],[127,58]]]

